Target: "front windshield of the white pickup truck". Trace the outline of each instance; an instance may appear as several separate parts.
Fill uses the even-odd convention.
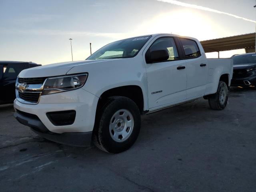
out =
[[[119,40],[100,48],[86,60],[130,58],[136,56],[151,36]]]

